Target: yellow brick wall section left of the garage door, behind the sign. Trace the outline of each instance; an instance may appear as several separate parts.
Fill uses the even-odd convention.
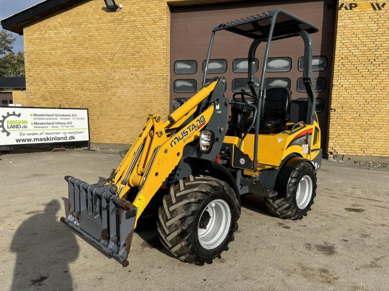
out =
[[[24,28],[28,105],[88,108],[92,142],[129,144],[147,113],[168,113],[168,5],[80,3]]]

